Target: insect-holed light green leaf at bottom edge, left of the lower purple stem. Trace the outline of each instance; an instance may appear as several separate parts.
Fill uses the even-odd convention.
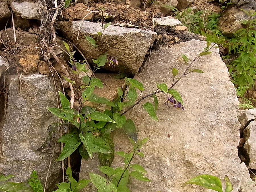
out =
[[[113,183],[95,173],[89,173],[92,184],[98,189],[98,192],[117,192]]]

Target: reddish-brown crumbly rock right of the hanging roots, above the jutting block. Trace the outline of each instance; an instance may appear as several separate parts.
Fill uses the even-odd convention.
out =
[[[88,7],[83,3],[77,3],[75,6],[64,9],[62,15],[65,19],[78,19],[90,20],[93,18],[94,13],[88,10]]]

